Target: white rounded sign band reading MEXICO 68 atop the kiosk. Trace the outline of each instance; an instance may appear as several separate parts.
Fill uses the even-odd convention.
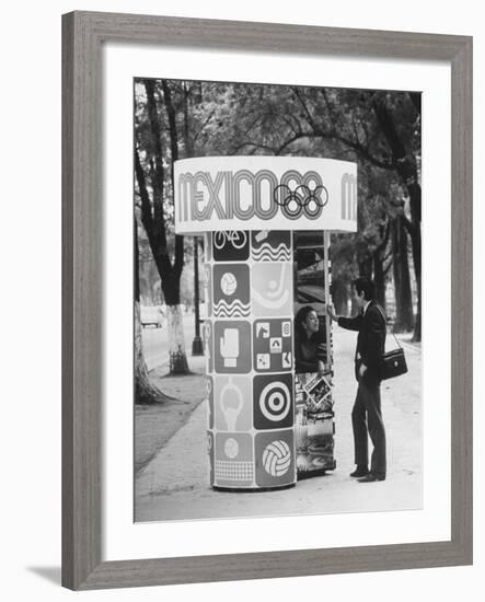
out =
[[[175,229],[357,229],[357,165],[301,157],[175,161]]]

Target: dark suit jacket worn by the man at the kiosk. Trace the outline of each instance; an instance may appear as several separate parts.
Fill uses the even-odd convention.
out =
[[[380,383],[385,349],[385,320],[377,302],[371,301],[366,313],[359,313],[355,317],[339,317],[338,325],[359,333],[355,357],[356,379],[359,380],[359,368],[363,363],[367,371],[362,381],[367,384]]]

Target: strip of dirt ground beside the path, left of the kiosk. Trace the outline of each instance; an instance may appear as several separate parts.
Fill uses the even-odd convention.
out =
[[[192,374],[169,377],[166,367],[150,372],[150,381],[174,397],[164,404],[135,406],[135,476],[188,420],[205,398],[205,358],[190,358]]]

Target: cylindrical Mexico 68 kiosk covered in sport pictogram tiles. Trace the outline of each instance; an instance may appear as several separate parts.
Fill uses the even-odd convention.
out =
[[[176,232],[205,235],[215,488],[297,482],[296,386],[301,397],[302,379],[295,374],[293,231],[355,230],[356,172],[354,163],[308,158],[175,162]],[[326,348],[331,358],[328,340]]]

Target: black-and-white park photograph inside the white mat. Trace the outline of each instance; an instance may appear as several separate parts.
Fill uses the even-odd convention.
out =
[[[423,505],[422,94],[134,81],[135,521]]]

